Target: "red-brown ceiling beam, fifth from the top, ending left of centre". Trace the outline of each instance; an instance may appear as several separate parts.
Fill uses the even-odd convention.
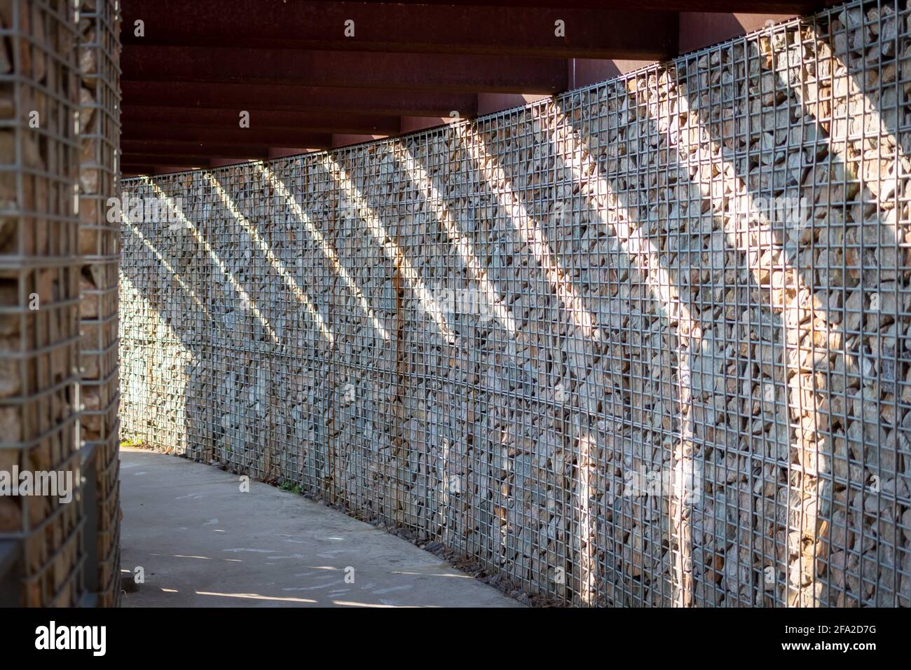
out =
[[[400,131],[399,119],[367,114],[325,114],[270,111],[243,108],[249,112],[251,129],[306,129],[314,132],[353,132],[394,135]],[[185,127],[238,129],[240,110],[181,107],[143,107],[124,105],[120,119],[138,123],[173,123]]]

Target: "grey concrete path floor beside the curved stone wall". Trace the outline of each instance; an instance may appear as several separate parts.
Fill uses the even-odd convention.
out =
[[[120,461],[121,567],[145,571],[125,607],[522,606],[302,496],[141,449]]]

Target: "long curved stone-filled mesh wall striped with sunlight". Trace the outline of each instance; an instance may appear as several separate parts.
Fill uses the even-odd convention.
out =
[[[908,21],[125,181],[125,436],[567,603],[908,605]]]

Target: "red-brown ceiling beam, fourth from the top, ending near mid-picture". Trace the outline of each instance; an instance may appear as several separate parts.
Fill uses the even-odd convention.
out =
[[[124,103],[133,106],[356,111],[361,114],[415,117],[445,117],[454,110],[463,118],[477,114],[477,98],[470,93],[126,79],[121,79],[120,90]]]

